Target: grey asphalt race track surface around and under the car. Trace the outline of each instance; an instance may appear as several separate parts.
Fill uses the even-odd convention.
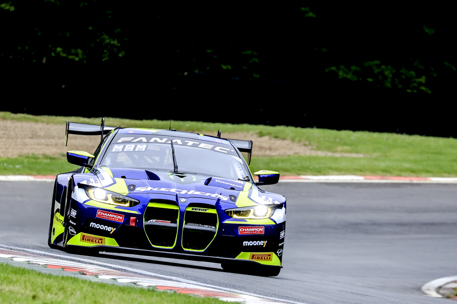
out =
[[[52,188],[50,182],[0,182],[0,243],[73,257],[47,246]],[[263,188],[287,197],[284,268],[277,277],[165,258],[90,259],[308,304],[452,301],[427,297],[420,287],[457,274],[457,185],[280,183]]]

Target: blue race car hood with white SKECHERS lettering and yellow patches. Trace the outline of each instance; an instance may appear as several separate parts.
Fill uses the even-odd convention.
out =
[[[261,191],[249,181],[165,170],[98,167],[91,173],[75,174],[73,178],[75,185],[103,187],[132,197],[135,194],[169,194],[176,198],[203,197],[236,206],[285,202],[284,196]]]

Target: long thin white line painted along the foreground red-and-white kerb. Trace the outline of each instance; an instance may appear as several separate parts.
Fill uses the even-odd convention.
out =
[[[51,256],[59,257],[59,258],[69,258],[69,259],[73,259],[73,260],[77,260],[77,261],[93,263],[93,264],[99,264],[99,265],[109,266],[109,267],[113,267],[113,268],[124,269],[124,270],[128,270],[128,271],[134,272],[134,273],[142,273],[142,274],[146,274],[146,275],[154,276],[154,277],[159,277],[159,278],[168,278],[168,279],[176,280],[176,281],[179,281],[179,282],[182,282],[182,283],[206,286],[206,287],[210,287],[210,288],[214,288],[214,289],[223,289],[225,291],[230,291],[230,292],[237,293],[237,294],[246,294],[246,295],[250,295],[250,296],[254,296],[254,297],[270,299],[270,300],[279,301],[279,302],[288,302],[288,303],[294,303],[294,304],[306,304],[306,303],[302,303],[302,302],[295,302],[295,301],[289,301],[289,300],[285,300],[285,299],[267,297],[267,296],[263,296],[263,295],[259,295],[259,294],[251,294],[251,293],[247,293],[245,291],[241,291],[241,290],[237,290],[237,289],[231,289],[231,288],[225,288],[225,287],[220,287],[220,286],[216,286],[216,285],[200,283],[200,282],[197,282],[197,281],[187,280],[187,279],[184,279],[184,278],[171,277],[171,276],[167,276],[167,275],[163,275],[163,274],[159,274],[159,273],[151,273],[149,271],[144,271],[144,270],[141,270],[141,269],[135,269],[135,268],[125,267],[125,266],[120,266],[120,265],[114,265],[114,264],[110,264],[110,263],[97,262],[97,261],[89,260],[89,259],[86,259],[86,258],[76,258],[76,257],[65,256],[65,255],[61,255],[61,254],[55,254],[55,253],[39,251],[39,250],[33,250],[33,249],[27,249],[27,248],[22,248],[22,247],[7,246],[5,244],[0,244],[0,247],[6,248],[6,249],[9,249],[9,248],[21,249],[21,250],[28,251],[28,252],[41,253],[41,254],[51,255]]]

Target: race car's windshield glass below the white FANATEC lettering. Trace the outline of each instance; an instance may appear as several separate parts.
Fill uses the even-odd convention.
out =
[[[114,168],[137,168],[157,169],[173,171],[173,156],[171,144],[164,141],[161,143],[117,143],[112,141],[107,153],[103,157],[101,165]],[[131,139],[129,139],[130,141]],[[211,142],[200,144],[200,146],[189,146],[179,144],[181,140],[174,140],[176,162],[180,172],[195,173],[226,177],[231,179],[246,179],[249,174],[244,167],[243,161],[235,156],[233,148],[227,149],[216,146],[216,150],[209,149],[213,146]],[[191,142],[192,143],[192,142]],[[227,145],[225,146],[227,147]],[[226,151],[228,150],[228,151]]]

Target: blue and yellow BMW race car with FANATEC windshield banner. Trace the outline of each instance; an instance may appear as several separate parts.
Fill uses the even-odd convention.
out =
[[[80,168],[57,175],[48,245],[221,263],[276,276],[282,266],[286,199],[258,186],[279,173],[248,167],[252,141],[174,129],[67,122],[69,134],[101,135],[92,155],[68,151]],[[105,136],[104,136],[105,135]],[[248,153],[248,162],[241,152]]]

